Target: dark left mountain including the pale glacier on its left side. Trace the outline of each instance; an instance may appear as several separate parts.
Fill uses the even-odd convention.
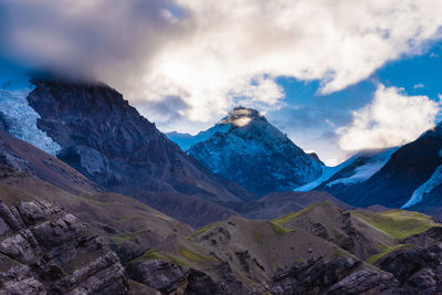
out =
[[[101,83],[33,80],[0,92],[0,126],[110,190],[192,225],[235,214],[213,201],[255,198],[213,175]],[[196,217],[189,212],[203,214]]]

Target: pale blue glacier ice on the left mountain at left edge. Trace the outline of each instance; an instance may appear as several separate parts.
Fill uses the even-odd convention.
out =
[[[52,140],[46,133],[36,127],[40,115],[28,104],[28,95],[33,91],[28,85],[21,89],[0,89],[0,113],[8,125],[8,131],[34,147],[56,156],[61,150],[59,144]]]

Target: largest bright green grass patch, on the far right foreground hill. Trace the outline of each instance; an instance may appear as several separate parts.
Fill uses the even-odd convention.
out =
[[[431,217],[404,210],[391,210],[381,213],[354,210],[351,214],[397,240],[440,226]]]

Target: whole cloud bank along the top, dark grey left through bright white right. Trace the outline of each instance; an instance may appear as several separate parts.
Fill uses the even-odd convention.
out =
[[[420,54],[442,24],[440,0],[4,0],[0,10],[0,51],[92,71],[159,127],[187,131],[224,115],[234,96],[281,106],[276,76],[343,89]],[[169,97],[187,106],[173,125],[146,104]]]

